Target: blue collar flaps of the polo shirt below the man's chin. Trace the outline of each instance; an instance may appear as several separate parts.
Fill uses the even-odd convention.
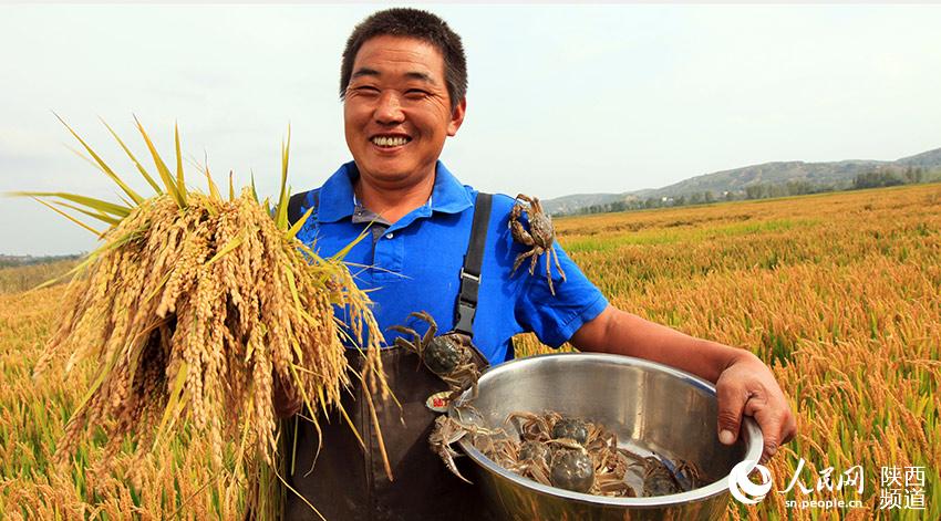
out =
[[[320,222],[335,222],[352,217],[355,210],[353,183],[359,175],[356,164],[350,161],[327,179],[319,196],[320,208],[317,210],[317,219]],[[435,164],[435,186],[432,188],[431,204],[432,211],[444,213],[457,213],[474,206],[467,188],[441,160]]]

